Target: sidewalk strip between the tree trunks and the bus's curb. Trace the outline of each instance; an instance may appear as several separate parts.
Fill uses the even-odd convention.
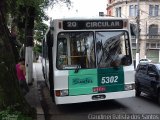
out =
[[[44,81],[43,75],[42,75],[42,67],[41,63],[33,63],[33,85],[30,85],[30,91],[25,96],[27,102],[31,105],[31,107],[34,107],[37,111],[37,120],[45,120],[44,117],[44,111],[41,106],[41,96],[39,94],[39,88],[37,85],[38,81]]]

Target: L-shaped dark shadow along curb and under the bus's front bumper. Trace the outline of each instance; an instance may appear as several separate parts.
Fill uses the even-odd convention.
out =
[[[42,96],[42,107],[46,114],[49,113],[88,113],[95,111],[112,111],[116,109],[127,109],[126,106],[120,104],[116,100],[106,100],[98,102],[85,102],[85,103],[76,103],[76,104],[66,104],[66,105],[55,105],[52,102],[52,99],[49,94],[49,90],[45,82],[38,82],[39,89]],[[50,112],[49,112],[50,111]],[[52,111],[52,112],[51,112]]]

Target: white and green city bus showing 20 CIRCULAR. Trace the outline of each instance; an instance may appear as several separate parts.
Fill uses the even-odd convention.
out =
[[[52,20],[42,66],[55,104],[135,96],[128,19]]]

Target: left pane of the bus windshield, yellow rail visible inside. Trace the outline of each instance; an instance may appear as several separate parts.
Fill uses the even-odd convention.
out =
[[[58,34],[58,69],[95,68],[93,32]]]

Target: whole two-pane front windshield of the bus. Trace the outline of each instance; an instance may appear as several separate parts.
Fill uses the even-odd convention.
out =
[[[61,32],[57,36],[57,68],[104,68],[119,61],[130,65],[130,49],[127,31]]]

